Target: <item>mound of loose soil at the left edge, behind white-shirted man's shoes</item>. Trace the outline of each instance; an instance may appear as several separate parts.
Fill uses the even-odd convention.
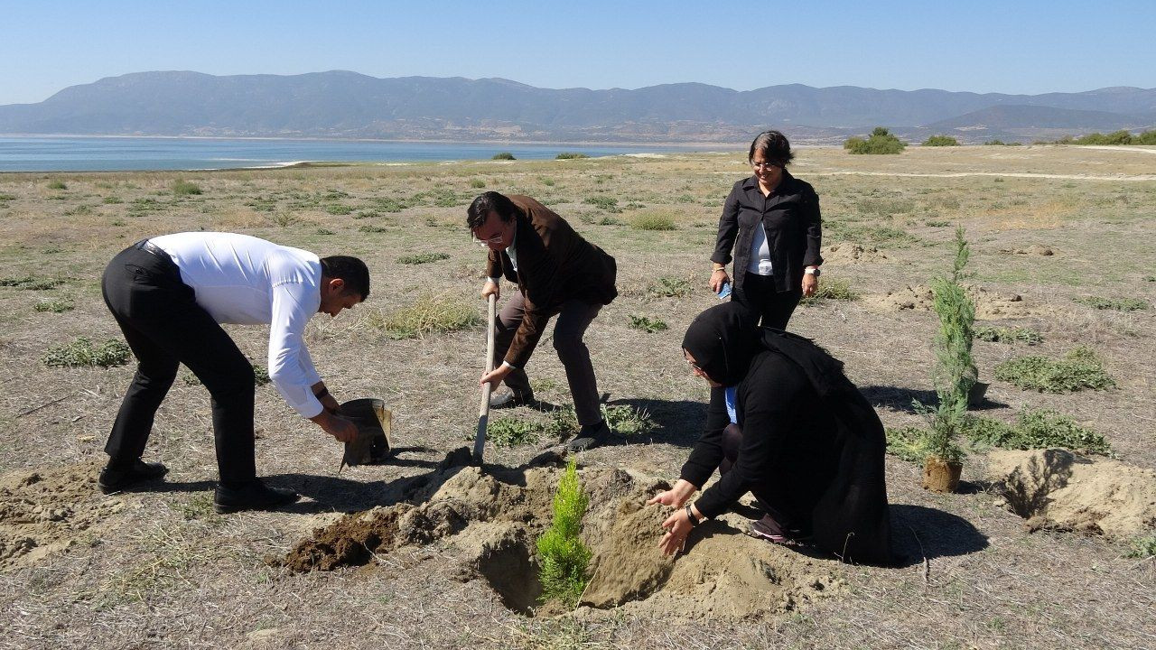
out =
[[[99,460],[0,478],[0,568],[31,563],[92,534],[124,501],[96,488]]]

